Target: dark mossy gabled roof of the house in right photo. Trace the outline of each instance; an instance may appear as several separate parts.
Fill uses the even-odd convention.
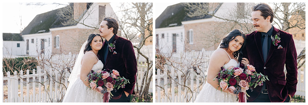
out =
[[[219,7],[218,7],[219,8]],[[217,9],[214,11],[214,13]],[[191,21],[191,20],[198,20],[198,19],[205,19],[211,18],[211,15],[205,15],[204,17],[188,17],[184,10],[184,6],[180,3],[168,6],[163,13],[160,14],[159,17],[155,20],[155,28],[165,28],[165,27],[174,27],[174,26],[181,26],[182,21]],[[173,15],[172,15],[173,13]],[[170,25],[170,26],[169,26]]]

